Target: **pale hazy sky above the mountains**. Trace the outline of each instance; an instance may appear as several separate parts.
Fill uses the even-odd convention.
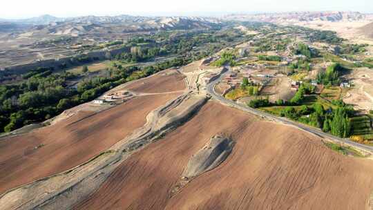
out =
[[[1,18],[49,14],[220,15],[233,12],[345,10],[373,12],[373,0],[1,0]]]

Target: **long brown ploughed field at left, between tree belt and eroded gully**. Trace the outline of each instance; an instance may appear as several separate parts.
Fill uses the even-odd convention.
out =
[[[97,114],[79,111],[52,126],[1,139],[0,193],[86,162],[143,126],[150,111],[178,95],[138,97]]]

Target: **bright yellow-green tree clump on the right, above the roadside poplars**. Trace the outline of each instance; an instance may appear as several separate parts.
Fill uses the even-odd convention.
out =
[[[332,64],[327,67],[325,72],[318,73],[316,80],[320,84],[324,85],[338,85],[341,84],[341,79],[339,79],[341,72],[345,70],[341,64]]]

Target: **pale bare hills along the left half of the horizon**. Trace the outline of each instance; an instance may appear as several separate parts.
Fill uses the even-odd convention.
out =
[[[0,32],[26,29],[50,35],[82,35],[99,32],[137,32],[217,28],[220,21],[203,17],[140,17],[131,15],[59,18],[43,15],[30,19],[1,20]]]

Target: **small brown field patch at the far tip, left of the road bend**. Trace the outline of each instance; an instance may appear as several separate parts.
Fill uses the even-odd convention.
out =
[[[137,93],[166,93],[184,90],[184,75],[176,70],[164,70],[156,75],[140,79],[126,86],[126,89]]]

